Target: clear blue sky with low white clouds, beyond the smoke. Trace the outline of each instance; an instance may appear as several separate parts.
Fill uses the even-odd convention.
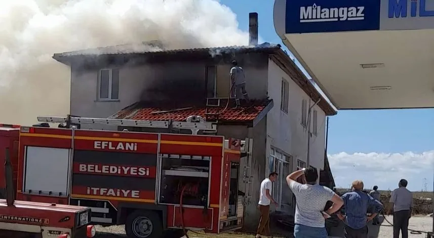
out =
[[[273,26],[274,1],[221,0],[248,30],[248,15],[257,12],[259,35],[280,43]],[[337,186],[362,179],[366,187],[393,189],[402,177],[411,190],[433,188],[434,109],[350,110],[330,118],[328,154]],[[425,180],[426,178],[426,180]]]

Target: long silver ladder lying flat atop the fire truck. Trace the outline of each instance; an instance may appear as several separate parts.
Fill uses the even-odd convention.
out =
[[[211,122],[193,122],[193,121],[145,121],[145,120],[124,120],[124,119],[103,119],[103,118],[88,118],[88,117],[37,117],[39,122],[48,123],[66,123],[66,125],[82,125],[82,124],[100,124],[109,126],[128,126],[128,127],[146,127],[146,128],[176,128],[188,129],[192,134],[197,134],[199,130],[204,130],[208,133],[216,132],[217,125]]]

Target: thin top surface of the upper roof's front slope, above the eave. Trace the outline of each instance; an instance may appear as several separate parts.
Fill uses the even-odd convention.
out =
[[[280,44],[271,44],[268,42],[259,45],[232,45],[223,47],[208,47],[208,48],[191,48],[191,49],[164,49],[161,44],[144,42],[141,44],[122,44],[110,45],[105,47],[97,47],[94,49],[86,49],[80,51],[64,52],[54,54],[54,57],[67,56],[86,56],[86,55],[115,55],[115,54],[151,54],[151,53],[197,53],[210,52],[215,54],[223,54],[233,51],[260,51],[264,49],[279,49]]]

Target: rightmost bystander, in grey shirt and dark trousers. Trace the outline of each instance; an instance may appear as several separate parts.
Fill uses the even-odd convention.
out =
[[[394,189],[390,197],[393,203],[393,238],[408,238],[408,222],[413,211],[413,194],[407,189],[408,181],[401,179],[398,188]]]

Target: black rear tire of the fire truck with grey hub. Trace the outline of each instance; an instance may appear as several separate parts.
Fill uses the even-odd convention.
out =
[[[163,235],[163,223],[154,211],[136,210],[127,216],[125,232],[129,238],[156,238]]]

